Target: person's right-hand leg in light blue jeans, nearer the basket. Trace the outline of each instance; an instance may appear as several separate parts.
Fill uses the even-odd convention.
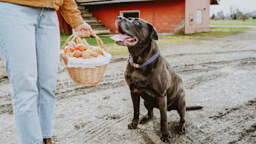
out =
[[[43,138],[52,137],[55,90],[60,59],[60,29],[55,10],[43,8],[36,25],[36,55],[39,91],[37,108]]]

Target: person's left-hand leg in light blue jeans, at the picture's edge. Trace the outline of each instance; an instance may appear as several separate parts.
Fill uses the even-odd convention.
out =
[[[42,143],[35,25],[41,8],[0,1],[0,55],[12,90],[13,114],[22,143]]]

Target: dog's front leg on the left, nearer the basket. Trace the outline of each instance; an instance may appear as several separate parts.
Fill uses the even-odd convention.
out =
[[[135,92],[131,92],[132,102],[133,102],[133,119],[132,122],[129,123],[128,128],[134,129],[137,128],[138,125],[138,116],[140,114],[140,96]]]

